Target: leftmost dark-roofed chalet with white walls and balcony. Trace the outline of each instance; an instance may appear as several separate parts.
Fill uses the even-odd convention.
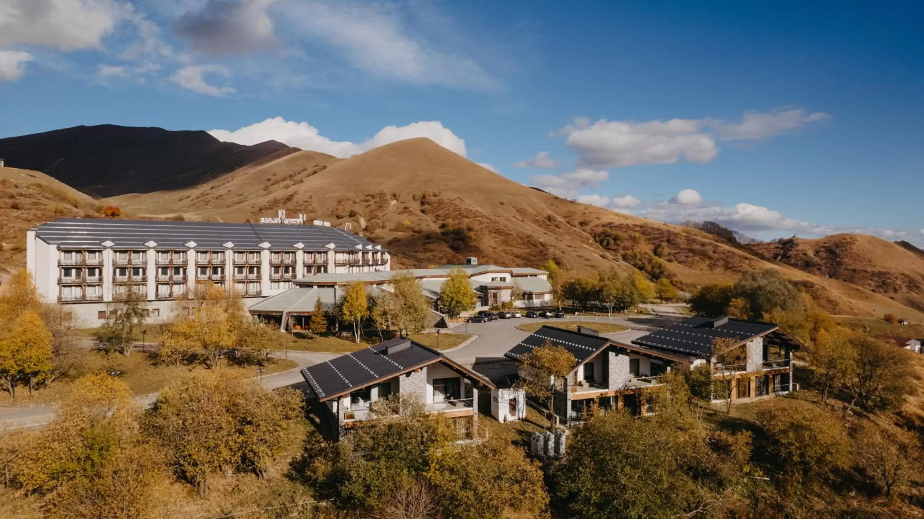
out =
[[[301,374],[308,382],[307,400],[319,417],[319,429],[334,441],[349,428],[389,416],[375,405],[386,397],[393,404],[449,416],[473,432],[480,394],[494,389],[491,380],[407,338],[338,356]]]

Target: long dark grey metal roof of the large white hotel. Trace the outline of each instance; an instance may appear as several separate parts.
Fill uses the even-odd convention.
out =
[[[270,250],[359,250],[375,247],[362,236],[323,225],[280,225],[266,223],[173,222],[148,220],[109,220],[94,218],[59,218],[42,223],[35,234],[43,242],[59,247],[100,248],[112,242],[114,248],[187,248],[195,242],[198,249],[224,249],[231,242],[236,249],[260,250],[268,243]],[[368,247],[367,247],[368,246]]]

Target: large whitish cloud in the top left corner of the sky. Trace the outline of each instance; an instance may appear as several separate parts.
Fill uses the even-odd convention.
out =
[[[116,0],[4,0],[0,46],[48,45],[62,51],[102,47],[104,36],[128,18],[131,5]]]

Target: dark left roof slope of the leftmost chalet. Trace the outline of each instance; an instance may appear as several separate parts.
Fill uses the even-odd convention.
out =
[[[324,400],[438,358],[443,355],[410,339],[396,338],[302,369],[301,375],[318,399]]]

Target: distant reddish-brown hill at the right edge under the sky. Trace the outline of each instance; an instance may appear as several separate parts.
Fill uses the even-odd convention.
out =
[[[748,247],[801,271],[856,284],[924,310],[924,258],[899,244],[869,235],[830,235]]]

